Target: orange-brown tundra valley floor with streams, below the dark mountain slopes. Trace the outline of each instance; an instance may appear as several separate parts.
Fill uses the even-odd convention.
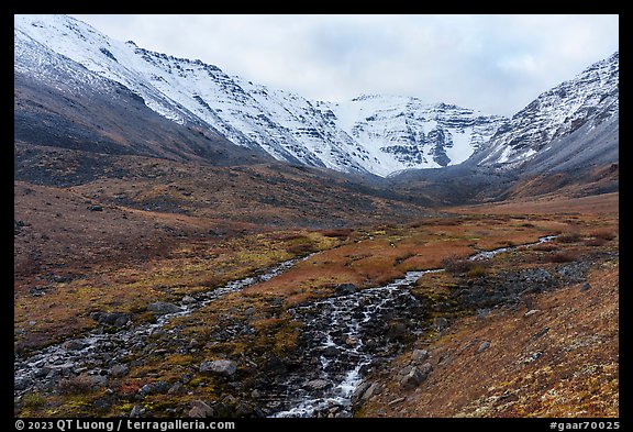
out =
[[[269,417],[337,383],[310,416],[619,416],[618,193],[301,230],[15,196],[15,416]]]

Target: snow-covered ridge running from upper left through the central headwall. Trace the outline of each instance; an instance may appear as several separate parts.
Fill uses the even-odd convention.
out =
[[[379,176],[454,165],[492,136],[503,120],[415,98],[309,101],[231,77],[198,59],[114,41],[66,15],[15,15],[14,25],[21,35],[15,37],[16,69],[37,74],[42,57],[63,56],[125,86],[169,120],[207,125],[236,145],[260,147],[291,163]],[[26,40],[48,51],[27,55],[20,49]]]

